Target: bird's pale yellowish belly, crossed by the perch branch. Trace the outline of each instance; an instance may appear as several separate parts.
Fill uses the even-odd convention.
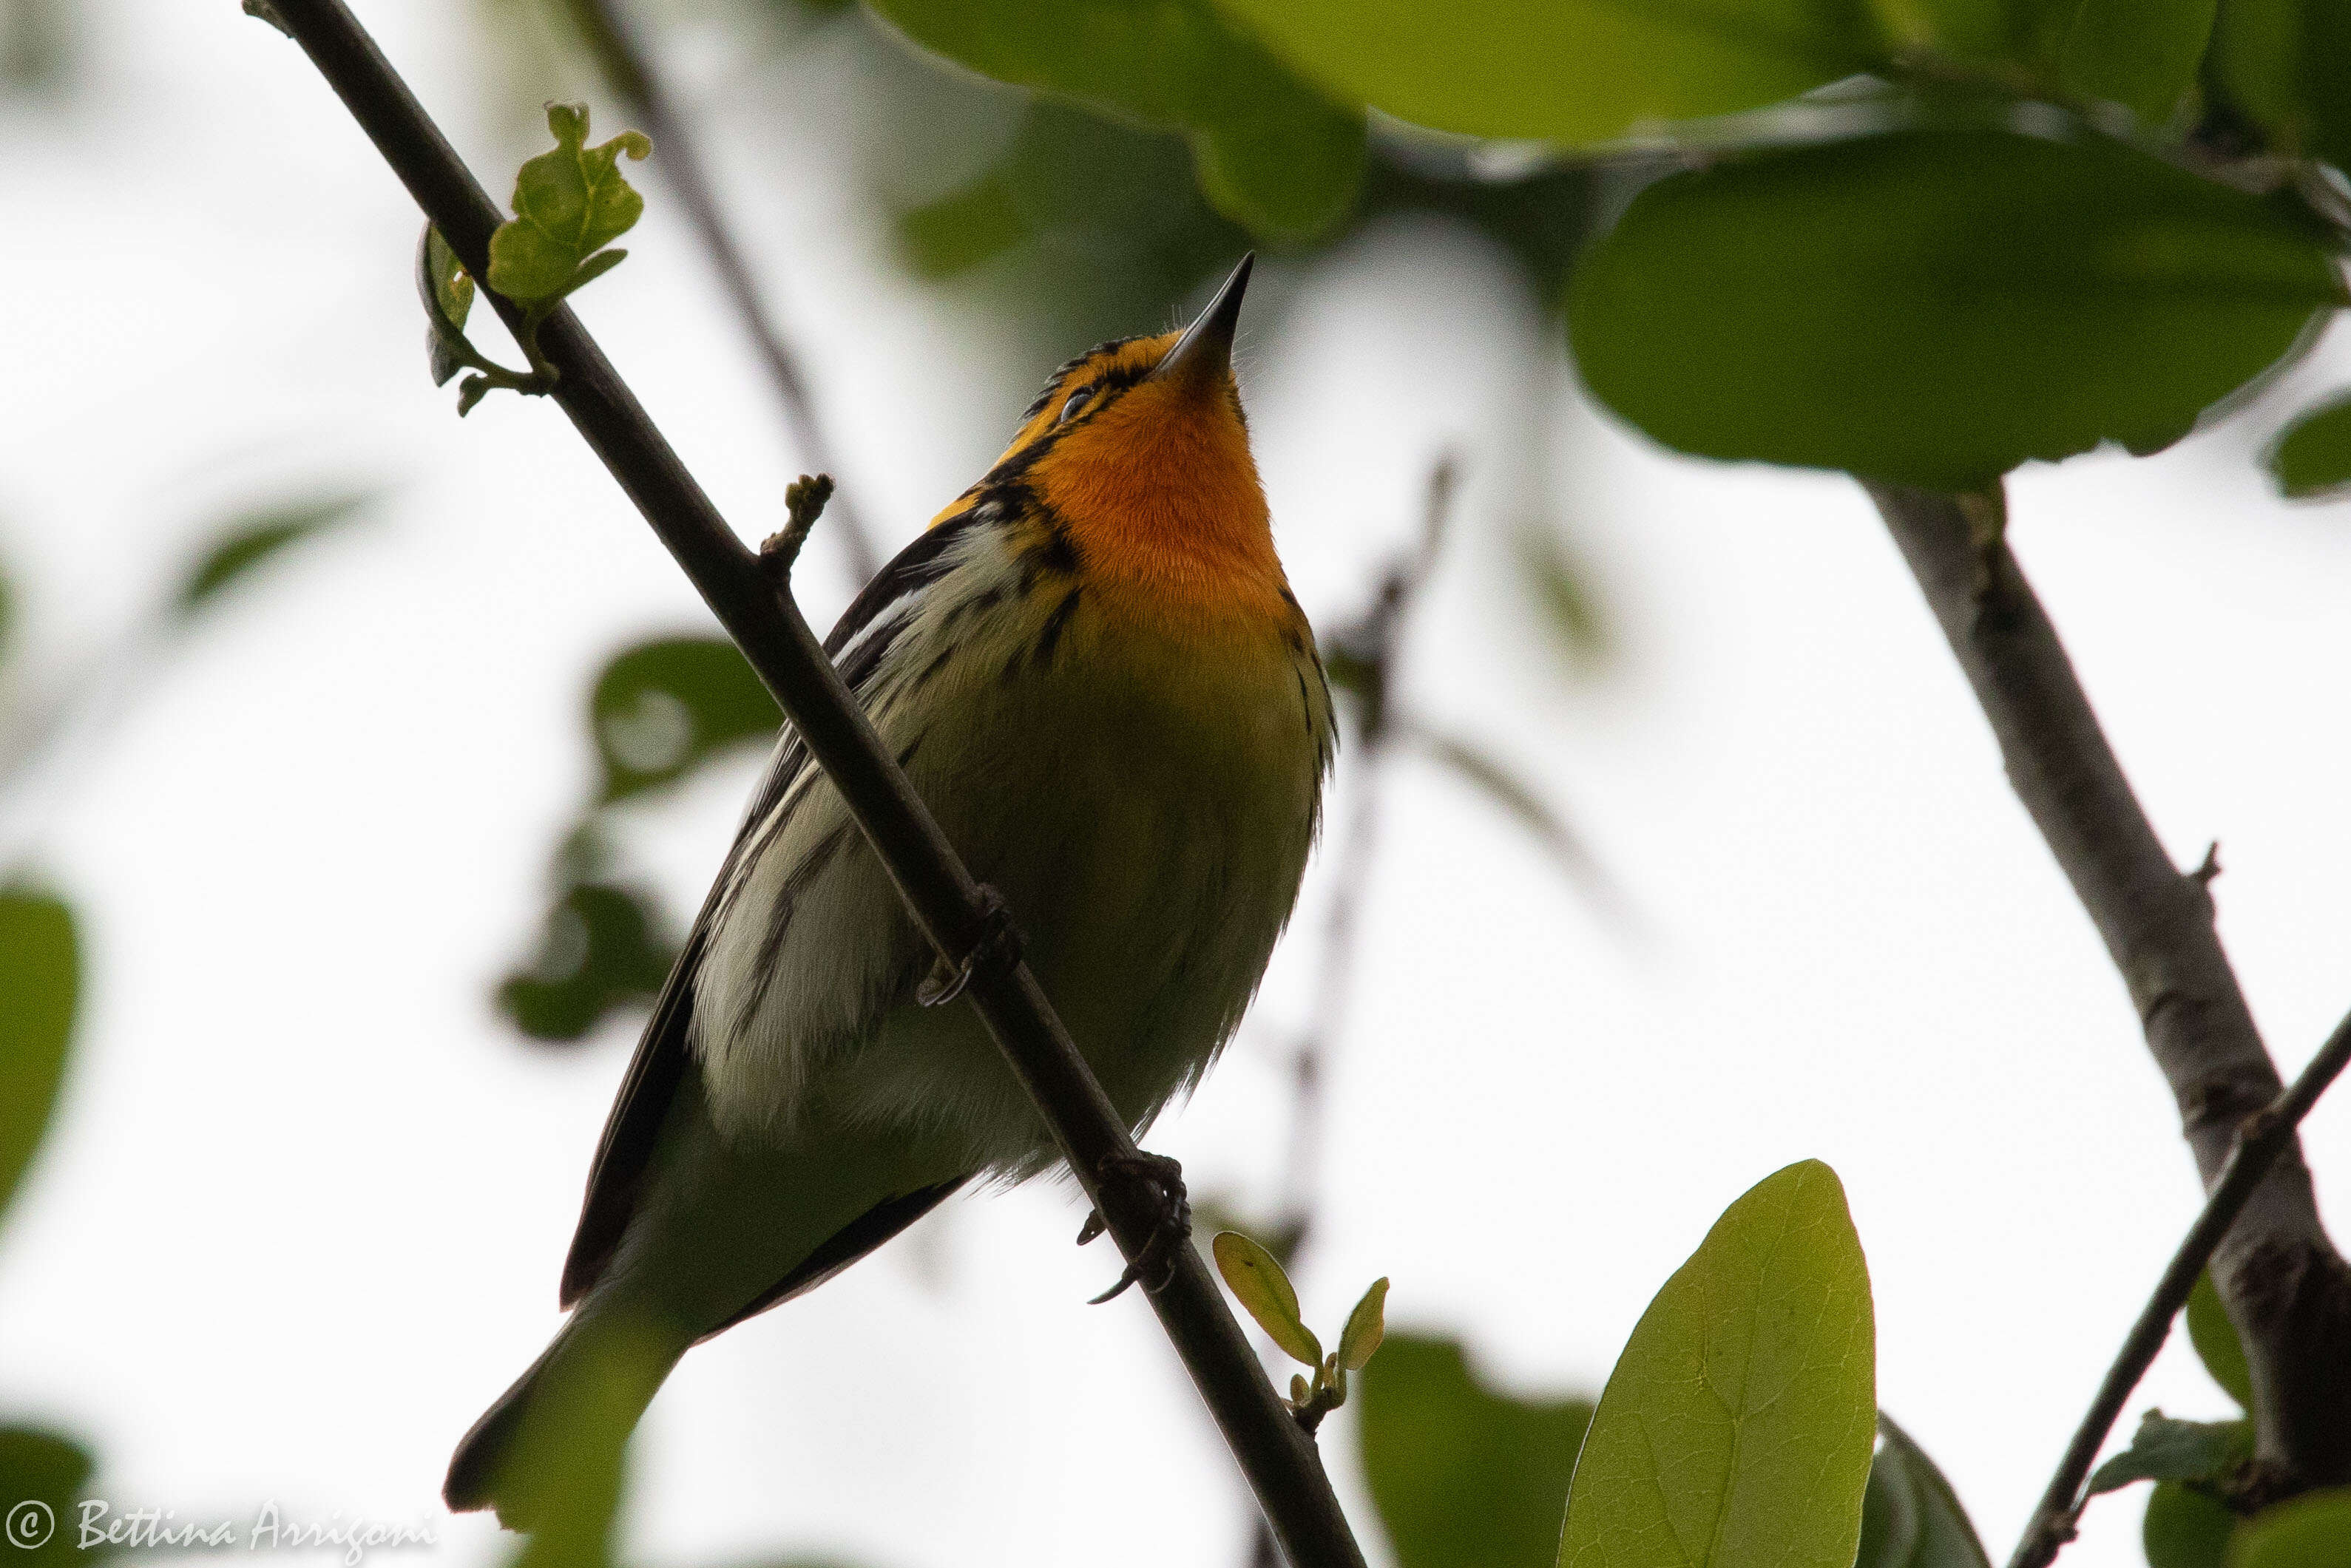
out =
[[[912,745],[917,790],[973,877],[1004,896],[1046,997],[1140,1128],[1232,1034],[1288,919],[1314,832],[1321,712],[1279,646],[1180,679],[1131,644],[1119,654],[1117,675],[1074,656],[1018,682],[978,668],[966,689],[933,693],[919,729],[905,710],[879,717],[893,750]],[[795,837],[820,844],[842,809],[825,788],[804,816]],[[943,1168],[1041,1168],[1044,1126],[973,1009],[905,999],[931,959],[872,851],[835,853],[795,896],[842,919],[773,954],[783,973],[738,1030],[745,1048],[712,1074],[722,1128],[790,1143],[792,1121],[813,1117],[898,1128]],[[738,992],[743,969],[726,976]]]

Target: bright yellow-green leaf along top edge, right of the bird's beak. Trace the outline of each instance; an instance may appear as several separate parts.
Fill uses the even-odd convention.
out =
[[[1345,101],[1472,136],[1603,141],[1867,71],[1862,0],[1218,0]]]

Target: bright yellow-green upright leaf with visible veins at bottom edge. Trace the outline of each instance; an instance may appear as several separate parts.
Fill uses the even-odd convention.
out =
[[[1836,1173],[1768,1175],[1641,1314],[1561,1568],[1848,1568],[1876,1432],[1869,1267]]]

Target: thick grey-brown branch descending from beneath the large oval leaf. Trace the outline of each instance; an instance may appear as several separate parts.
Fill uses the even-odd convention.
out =
[[[1991,719],[2017,799],[2123,973],[2215,1192],[2238,1126],[2283,1084],[2212,929],[2212,863],[2184,875],[2163,853],[2008,550],[1998,491],[1867,489]],[[2212,1284],[2252,1371],[2259,1490],[2351,1481],[2351,1267],[2292,1138],[2222,1237]]]

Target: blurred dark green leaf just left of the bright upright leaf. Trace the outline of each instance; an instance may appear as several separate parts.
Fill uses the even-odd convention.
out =
[[[1361,1375],[1364,1481],[1399,1568],[1545,1568],[1585,1399],[1512,1399],[1458,1340],[1389,1333]]]

